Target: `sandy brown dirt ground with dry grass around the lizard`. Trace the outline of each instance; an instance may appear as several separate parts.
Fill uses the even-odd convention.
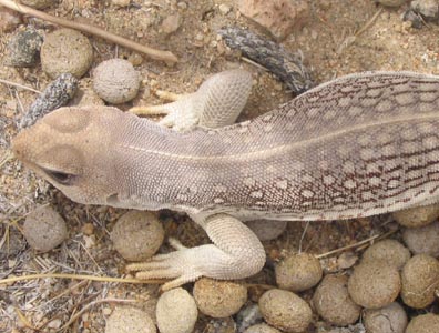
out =
[[[238,54],[226,50],[218,39],[216,31],[225,26],[238,24],[262,32],[239,16],[236,1],[134,0],[127,8],[116,8],[109,2],[62,0],[44,11],[99,26],[142,44],[170,50],[180,58],[176,65],[166,67],[163,62],[144,57],[136,67],[143,78],[141,92],[133,102],[122,104],[122,109],[161,103],[153,93],[156,89],[181,93],[195,91],[207,75],[236,67],[251,71],[255,82],[241,119],[256,117],[293,97],[270,73],[239,60]],[[294,31],[283,44],[290,51],[302,50],[305,64],[312,69],[316,82],[369,70],[410,70],[438,74],[438,27],[430,23],[422,29],[414,29],[402,22],[401,16],[408,4],[399,9],[380,9],[371,0],[309,2],[312,13],[308,23],[300,31]],[[232,10],[225,14],[220,10],[220,4],[227,4]],[[377,12],[376,20],[367,24]],[[181,26],[176,31],[166,33],[162,21],[175,13],[180,14]],[[25,23],[44,33],[55,29],[52,24],[32,18],[27,18]],[[0,36],[0,78],[43,90],[50,79],[42,72],[40,63],[29,69],[3,65],[6,44],[13,33]],[[93,68],[103,60],[113,57],[127,59],[133,53],[102,39],[89,38],[94,49]],[[86,81],[88,77],[90,74],[83,80]],[[109,231],[123,211],[69,201],[24,170],[9,150],[11,138],[18,131],[17,123],[34,99],[33,92],[0,84],[0,278],[61,271],[120,276],[124,273],[125,262],[113,250]],[[70,236],[60,248],[42,254],[32,251],[25,243],[21,225],[28,212],[47,203],[65,219]],[[195,245],[208,241],[201,229],[183,215],[162,212],[160,218],[166,234],[178,238],[184,244]],[[93,231],[85,232],[83,225],[90,223],[94,225]],[[248,282],[274,285],[273,263],[287,253],[297,252],[299,245],[302,250],[320,254],[386,232],[389,225],[392,224],[368,219],[309,223],[306,229],[305,223],[289,223],[287,232],[265,244],[268,265]],[[169,250],[167,245],[162,248]],[[326,271],[338,270],[338,255],[323,260]],[[251,289],[251,299],[256,299],[259,292],[258,287]],[[105,297],[133,299],[137,301],[137,306],[153,313],[156,296],[156,285],[64,279],[0,284],[0,332],[10,332],[12,329],[19,332],[34,332],[34,329],[54,332],[65,324],[65,332],[103,332],[105,319],[118,301],[85,307],[93,301]],[[308,300],[310,294],[305,293],[303,296]],[[210,319],[201,317],[197,332],[203,332],[208,322]]]

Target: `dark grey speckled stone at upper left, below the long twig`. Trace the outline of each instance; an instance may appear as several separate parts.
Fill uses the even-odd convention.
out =
[[[4,64],[10,67],[32,67],[35,64],[43,38],[33,29],[20,31],[7,44]]]

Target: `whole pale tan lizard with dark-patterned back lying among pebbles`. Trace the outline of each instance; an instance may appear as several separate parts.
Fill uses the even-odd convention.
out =
[[[185,131],[111,107],[61,108],[22,130],[12,150],[73,201],[170,209],[200,224],[212,244],[171,240],[176,251],[129,265],[140,279],[170,279],[164,290],[261,271],[264,248],[243,223],[252,219],[343,220],[438,201],[439,77],[356,73],[249,121],[194,124],[216,108],[234,120],[252,84],[243,70],[215,78],[167,108],[167,127],[192,112]]]

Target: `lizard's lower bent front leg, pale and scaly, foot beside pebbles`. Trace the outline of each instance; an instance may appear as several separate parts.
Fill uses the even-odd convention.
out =
[[[155,255],[147,262],[133,263],[126,269],[137,271],[139,279],[174,279],[162,286],[169,290],[201,276],[243,279],[264,266],[265,251],[261,241],[236,218],[215,214],[198,221],[198,224],[213,244],[188,249],[173,240],[171,244],[176,248],[175,252]]]

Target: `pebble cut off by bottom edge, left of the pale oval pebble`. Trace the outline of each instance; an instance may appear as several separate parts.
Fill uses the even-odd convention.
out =
[[[105,333],[155,333],[153,320],[136,307],[118,306],[106,320]]]

